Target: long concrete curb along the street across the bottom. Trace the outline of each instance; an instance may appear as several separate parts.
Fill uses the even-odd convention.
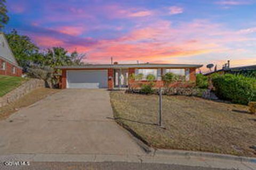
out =
[[[179,153],[178,153],[179,154]],[[183,155],[113,155],[113,154],[13,154],[0,155],[0,169],[3,162],[29,161],[29,162],[125,162],[125,163],[153,163],[167,165],[183,165],[194,167],[209,167],[221,169],[256,169],[255,163],[247,163],[226,159],[212,159],[205,157],[193,157]]]

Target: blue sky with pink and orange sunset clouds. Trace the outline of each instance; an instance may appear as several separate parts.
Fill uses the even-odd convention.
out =
[[[87,63],[256,64],[256,0],[7,0],[10,22],[42,49]]]

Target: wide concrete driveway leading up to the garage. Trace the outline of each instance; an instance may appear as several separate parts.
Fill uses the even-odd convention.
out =
[[[66,89],[0,121],[0,155],[143,154],[114,120],[109,92]]]

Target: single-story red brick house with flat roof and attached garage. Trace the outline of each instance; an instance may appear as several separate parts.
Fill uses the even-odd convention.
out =
[[[140,74],[144,80],[148,74],[156,77],[156,86],[163,86],[162,75],[166,72],[183,75],[186,81],[196,81],[196,69],[203,65],[190,64],[99,64],[82,66],[60,66],[61,89],[65,88],[126,88],[129,86],[131,74]]]

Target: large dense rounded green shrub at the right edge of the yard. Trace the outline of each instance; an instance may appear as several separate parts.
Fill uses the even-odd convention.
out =
[[[224,100],[247,105],[256,101],[256,79],[225,74],[212,78],[215,94]]]

